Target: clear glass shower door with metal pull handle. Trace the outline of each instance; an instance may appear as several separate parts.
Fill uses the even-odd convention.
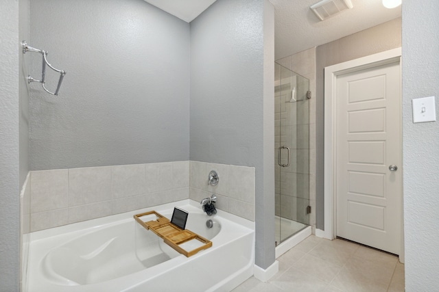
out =
[[[276,245],[309,226],[309,80],[275,63]]]

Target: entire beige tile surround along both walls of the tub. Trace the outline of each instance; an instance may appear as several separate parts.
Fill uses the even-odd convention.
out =
[[[211,170],[219,184],[207,185]],[[233,179],[230,179],[230,175]],[[30,230],[217,194],[217,208],[254,221],[254,168],[174,161],[30,172]]]

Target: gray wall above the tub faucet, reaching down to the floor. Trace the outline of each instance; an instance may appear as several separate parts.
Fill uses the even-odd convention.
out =
[[[191,22],[190,159],[256,168],[256,264],[265,269],[274,262],[274,169],[272,192],[265,194],[272,196],[269,206],[263,180],[264,57],[274,67],[274,54],[264,56],[264,38],[272,36],[263,29],[263,0],[220,0]],[[267,86],[272,92],[274,84]]]

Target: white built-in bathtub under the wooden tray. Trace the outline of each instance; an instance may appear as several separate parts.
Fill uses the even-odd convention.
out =
[[[187,258],[132,215],[189,211],[186,228],[213,246]],[[206,220],[213,220],[213,228]],[[253,274],[254,222],[183,200],[31,234],[27,291],[230,291]]]

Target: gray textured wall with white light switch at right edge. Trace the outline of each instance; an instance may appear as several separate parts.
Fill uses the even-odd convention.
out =
[[[439,2],[418,4],[403,3],[405,291],[437,291],[439,122],[413,124],[412,99],[436,96],[438,115]]]

